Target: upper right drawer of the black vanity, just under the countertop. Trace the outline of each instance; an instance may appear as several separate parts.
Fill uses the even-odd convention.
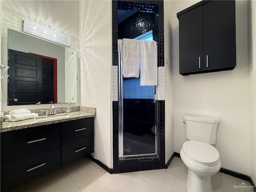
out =
[[[88,137],[93,134],[93,117],[62,123],[62,144]]]

